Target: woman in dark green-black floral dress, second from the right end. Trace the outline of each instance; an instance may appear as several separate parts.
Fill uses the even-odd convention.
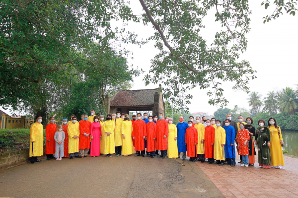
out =
[[[270,131],[265,127],[265,121],[263,119],[258,121],[258,125],[260,127],[257,129],[255,144],[258,146],[259,165],[263,168],[270,168]]]

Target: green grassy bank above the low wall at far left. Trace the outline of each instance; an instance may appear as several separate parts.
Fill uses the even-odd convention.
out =
[[[44,133],[44,143],[46,132]],[[0,129],[0,152],[7,150],[20,150],[29,147],[30,129]]]

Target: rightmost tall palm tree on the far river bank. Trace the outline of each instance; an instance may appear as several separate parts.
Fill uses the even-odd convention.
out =
[[[280,92],[279,105],[282,113],[294,115],[297,111],[297,92],[291,87],[286,87]]]

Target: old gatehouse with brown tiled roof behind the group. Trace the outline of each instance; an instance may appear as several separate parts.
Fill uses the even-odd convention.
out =
[[[152,115],[164,115],[165,112],[161,85],[156,89],[119,90],[112,99],[106,95],[104,103],[107,114],[152,111]]]

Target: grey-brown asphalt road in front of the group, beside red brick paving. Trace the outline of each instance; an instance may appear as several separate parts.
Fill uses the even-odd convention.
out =
[[[43,160],[0,171],[0,197],[209,198],[223,195],[192,162],[100,156]]]

